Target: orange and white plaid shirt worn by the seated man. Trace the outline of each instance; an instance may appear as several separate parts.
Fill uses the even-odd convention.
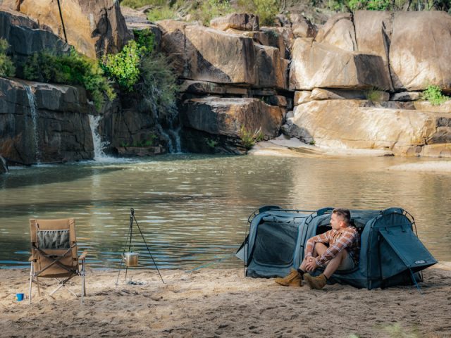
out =
[[[346,227],[342,232],[329,230],[323,234],[311,237],[307,241],[305,256],[313,256],[313,249],[316,243],[329,244],[328,249],[323,255],[316,257],[317,265],[328,263],[337,254],[346,249],[350,253],[356,264],[359,263],[360,236],[355,227]]]

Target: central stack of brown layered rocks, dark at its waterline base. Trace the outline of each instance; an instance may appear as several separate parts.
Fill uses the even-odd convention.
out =
[[[163,32],[161,49],[184,79],[180,121],[185,150],[240,152],[241,128],[277,136],[292,101],[280,95],[288,89],[281,37],[272,30],[259,32],[257,18],[247,14],[213,20],[218,29],[174,20],[157,24]],[[206,142],[216,144],[214,149]]]

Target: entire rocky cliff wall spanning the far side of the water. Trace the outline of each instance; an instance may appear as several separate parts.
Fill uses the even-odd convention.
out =
[[[63,37],[54,1],[2,2],[39,19],[38,25],[23,14],[0,11],[0,37],[8,39],[15,56],[49,48],[68,51],[68,44],[52,34]],[[69,43],[90,56],[118,51],[131,29],[155,33],[157,50],[180,80],[185,151],[241,152],[244,128],[261,130],[266,138],[282,130],[318,146],[451,156],[451,110],[416,101],[430,84],[451,91],[451,16],[446,13],[357,11],[335,15],[322,27],[302,15],[281,15],[281,27],[259,27],[256,16],[234,13],[203,27],[175,20],[151,25],[130,11],[125,27],[117,1],[60,2]],[[0,154],[25,163],[92,158],[87,116],[93,112],[82,89],[27,86],[1,80]],[[111,151],[155,137],[159,152],[173,148],[169,137],[155,136],[168,130],[137,100],[127,94],[104,108],[102,140]],[[30,123],[43,135],[38,146]],[[176,133],[178,125],[166,127]]]

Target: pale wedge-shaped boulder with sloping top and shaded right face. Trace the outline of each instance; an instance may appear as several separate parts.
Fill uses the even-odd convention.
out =
[[[290,90],[314,88],[390,89],[381,56],[344,51],[313,39],[295,40]]]

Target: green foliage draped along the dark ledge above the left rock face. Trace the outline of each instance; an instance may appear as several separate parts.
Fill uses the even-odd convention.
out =
[[[25,80],[85,87],[97,110],[103,105],[105,96],[109,100],[116,97],[98,63],[74,49],[65,55],[49,51],[32,54],[23,65],[23,77]]]

